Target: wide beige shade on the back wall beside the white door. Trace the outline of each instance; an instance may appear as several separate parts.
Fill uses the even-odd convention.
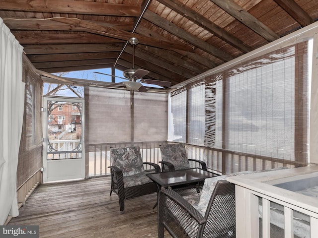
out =
[[[167,94],[85,86],[88,144],[165,141]]]

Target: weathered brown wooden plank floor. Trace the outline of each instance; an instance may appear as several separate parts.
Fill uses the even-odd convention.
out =
[[[121,214],[109,191],[110,177],[40,184],[8,225],[38,225],[40,238],[158,238],[156,193],[126,200]]]

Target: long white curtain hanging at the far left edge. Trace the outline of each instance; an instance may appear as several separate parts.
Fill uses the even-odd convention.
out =
[[[23,123],[23,47],[0,18],[0,225],[19,215],[16,171]]]

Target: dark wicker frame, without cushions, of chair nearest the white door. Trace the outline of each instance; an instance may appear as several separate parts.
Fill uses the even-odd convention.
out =
[[[144,162],[143,164],[147,166],[147,168],[153,167],[153,171],[155,171],[155,173],[160,173],[159,165],[150,162]],[[122,213],[125,210],[125,200],[157,192],[157,185],[155,182],[149,182],[132,187],[124,187],[123,172],[116,166],[109,166],[108,168],[110,168],[111,171],[111,189],[109,195],[111,195],[112,192],[118,195],[119,209]],[[149,173],[154,173],[153,171],[149,171]]]

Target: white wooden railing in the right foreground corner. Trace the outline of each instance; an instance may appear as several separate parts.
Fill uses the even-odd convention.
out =
[[[227,178],[236,184],[236,237],[318,237],[317,174],[318,166],[307,166]],[[296,182],[303,189],[281,185]]]

